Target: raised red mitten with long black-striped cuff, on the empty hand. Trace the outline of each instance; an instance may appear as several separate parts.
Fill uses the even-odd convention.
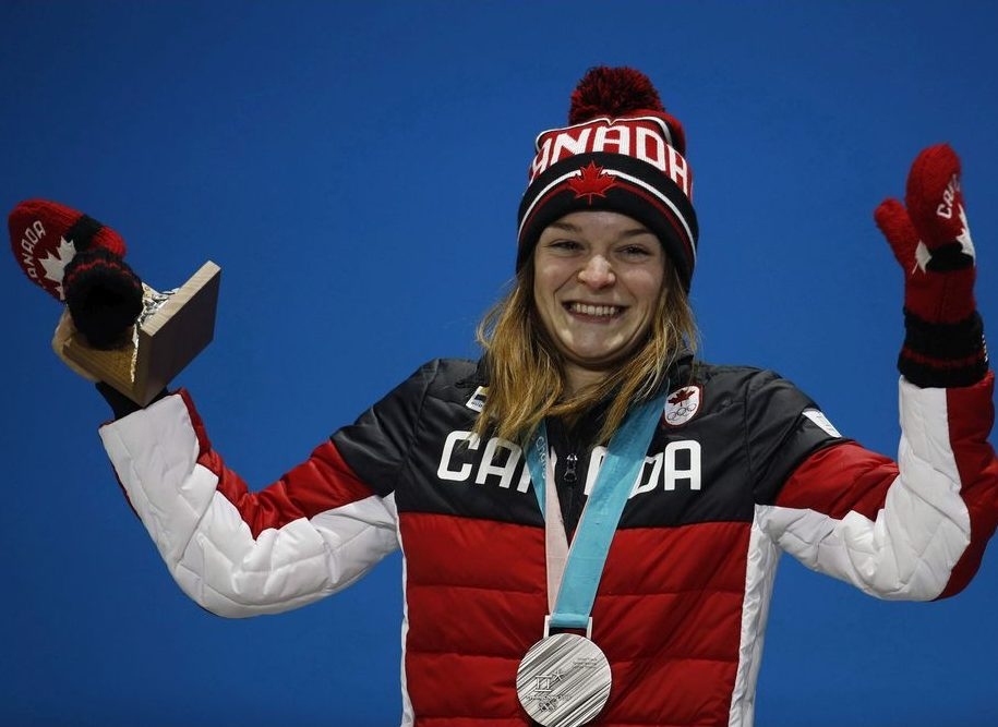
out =
[[[905,339],[898,367],[917,386],[969,386],[987,372],[987,351],[974,302],[974,244],[960,159],[949,145],[918,155],[904,201],[886,199],[874,213],[904,270]]]

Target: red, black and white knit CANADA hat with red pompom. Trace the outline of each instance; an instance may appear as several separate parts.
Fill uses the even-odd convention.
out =
[[[651,230],[688,291],[697,216],[686,136],[640,71],[590,69],[572,94],[568,126],[541,132],[518,214],[519,270],[549,225],[574,211],[627,215]]]

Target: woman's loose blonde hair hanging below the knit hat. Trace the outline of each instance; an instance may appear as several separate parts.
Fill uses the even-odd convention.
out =
[[[548,416],[569,423],[593,405],[609,400],[600,443],[620,427],[630,407],[651,396],[671,364],[697,343],[689,299],[674,266],[665,265],[665,283],[644,344],[627,365],[618,366],[598,385],[566,396],[561,354],[551,342],[533,304],[533,260],[514,279],[513,290],[482,318],[478,342],[485,351],[489,393],[474,425],[479,436],[494,436],[525,445]]]

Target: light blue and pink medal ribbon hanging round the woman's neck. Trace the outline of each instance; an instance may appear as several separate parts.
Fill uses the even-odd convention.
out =
[[[554,484],[554,465],[548,456],[548,431],[543,422],[527,448],[533,492],[544,514],[549,626],[560,629],[585,629],[589,626],[610,542],[645,465],[648,445],[664,405],[664,397],[639,405],[627,415],[610,440],[610,449],[582,509],[570,548]],[[544,483],[543,486],[541,483]]]

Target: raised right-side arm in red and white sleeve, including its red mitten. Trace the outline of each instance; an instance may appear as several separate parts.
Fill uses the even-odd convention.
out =
[[[879,597],[931,599],[966,585],[998,521],[994,376],[953,150],[919,154],[905,204],[888,199],[875,216],[904,271],[898,460],[849,441],[822,449],[761,522],[815,570]]]

